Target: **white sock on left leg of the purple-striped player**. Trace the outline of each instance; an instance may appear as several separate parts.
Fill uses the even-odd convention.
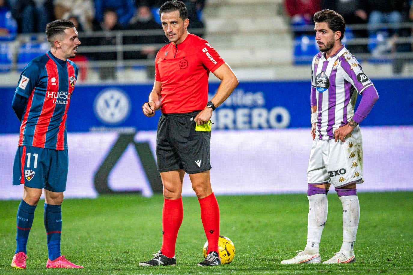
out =
[[[306,250],[320,247],[321,233],[323,233],[325,221],[327,220],[328,201],[326,194],[315,194],[307,196],[309,199],[309,214],[307,226]]]

